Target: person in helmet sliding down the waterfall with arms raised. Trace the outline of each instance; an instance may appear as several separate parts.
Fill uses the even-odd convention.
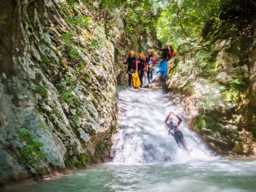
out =
[[[178,118],[178,122],[176,124],[173,123],[173,118],[171,115],[174,115]],[[187,153],[190,153],[192,149],[188,149],[187,144],[183,138],[183,133],[178,129],[181,121],[182,119],[175,112],[170,112],[164,120],[165,129],[168,131],[168,134],[172,135],[174,140],[178,143],[179,147],[183,147]]]

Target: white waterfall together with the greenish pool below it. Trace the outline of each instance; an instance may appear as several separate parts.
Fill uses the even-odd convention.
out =
[[[181,117],[182,112],[161,91],[119,91],[118,106],[120,130],[111,148],[113,162],[7,191],[256,190],[255,160],[214,156],[186,122],[179,128],[193,151],[188,155],[178,148],[163,121],[169,111]]]

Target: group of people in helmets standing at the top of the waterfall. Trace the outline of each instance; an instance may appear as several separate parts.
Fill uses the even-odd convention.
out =
[[[156,74],[160,74],[160,79],[163,88],[163,94],[167,93],[167,86],[166,86],[166,79],[167,79],[167,61],[174,58],[172,45],[166,43],[163,49],[160,49],[158,54],[159,69],[157,70]],[[138,72],[139,79],[141,82],[140,87],[142,87],[142,80],[143,76],[147,73],[148,83],[151,84],[153,80],[153,70],[154,65],[156,62],[156,57],[153,55],[153,50],[149,49],[147,57],[143,55],[143,53],[139,54],[139,59],[135,57],[135,52],[131,51],[129,57],[126,59],[124,64],[128,65],[127,73],[129,75],[128,83],[129,87],[131,88],[131,81],[132,81],[132,73]]]

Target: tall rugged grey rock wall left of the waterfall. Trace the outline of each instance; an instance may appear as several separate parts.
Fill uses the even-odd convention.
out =
[[[108,157],[123,60],[147,35],[119,16],[103,25],[96,2],[67,2],[0,3],[0,183]]]

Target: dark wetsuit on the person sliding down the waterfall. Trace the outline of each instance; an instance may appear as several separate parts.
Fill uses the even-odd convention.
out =
[[[176,115],[176,117],[178,118],[178,122],[177,124],[174,123],[169,123],[168,119],[169,119],[169,115],[167,115],[167,117],[164,120],[164,125],[167,127],[168,129],[168,133],[172,135],[172,137],[174,138],[174,140],[178,143],[179,145],[179,138],[178,138],[178,133],[180,133],[182,139],[183,138],[183,133],[178,129],[178,126],[180,125],[182,119]],[[185,140],[184,140],[185,141]],[[188,150],[186,143],[182,143],[183,148],[185,148],[186,150]],[[180,147],[180,146],[179,146]]]

